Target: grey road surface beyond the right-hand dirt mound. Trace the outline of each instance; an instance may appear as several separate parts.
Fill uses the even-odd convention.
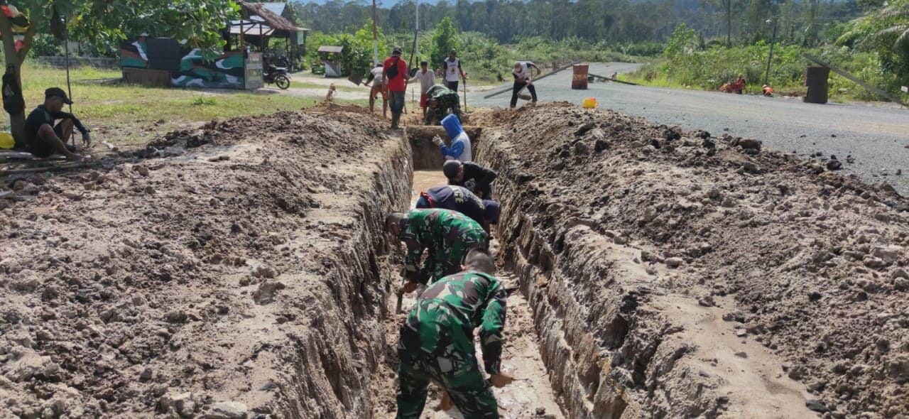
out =
[[[637,65],[591,65],[590,73],[612,75],[632,71]],[[654,124],[704,129],[712,135],[756,138],[767,148],[795,152],[808,158],[815,153],[836,155],[844,171],[866,182],[887,182],[909,196],[909,109],[889,105],[814,105],[800,99],[728,95],[719,92],[659,87],[591,83],[587,90],[572,90],[571,71],[540,80],[536,91],[541,102],[567,101],[577,105],[596,98],[600,108],[643,116]],[[506,107],[510,93],[483,99],[491,93],[471,92],[468,105]],[[521,105],[519,103],[518,105]],[[852,155],[854,164],[845,162]],[[902,175],[895,175],[902,170]]]

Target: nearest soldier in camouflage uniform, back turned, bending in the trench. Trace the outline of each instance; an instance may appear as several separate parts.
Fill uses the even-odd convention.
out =
[[[512,380],[501,372],[507,294],[493,276],[488,252],[472,250],[464,267],[464,272],[426,289],[401,326],[398,419],[420,417],[430,380],[447,392],[465,418],[499,417],[490,384],[501,387]],[[489,382],[476,363],[475,327],[480,328]]]

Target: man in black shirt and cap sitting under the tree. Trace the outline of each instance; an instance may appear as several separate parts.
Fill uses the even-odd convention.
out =
[[[66,139],[73,135],[73,127],[82,133],[85,143],[91,142],[91,135],[85,125],[73,114],[63,112],[63,105],[71,105],[73,101],[66,97],[66,93],[59,87],[45,90],[45,103],[38,105],[31,114],[25,118],[25,142],[28,152],[36,157],[50,155],[65,155],[71,160],[82,160],[85,157],[75,155],[66,147]],[[56,121],[60,122],[57,123]]]

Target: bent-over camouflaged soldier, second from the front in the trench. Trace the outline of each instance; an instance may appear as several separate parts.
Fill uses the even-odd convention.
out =
[[[464,214],[445,209],[416,209],[407,214],[393,213],[385,219],[388,232],[407,245],[405,277],[410,281],[405,292],[418,284],[432,284],[445,275],[461,270],[470,249],[489,246],[488,235],[480,224]],[[419,267],[424,249],[428,250]]]

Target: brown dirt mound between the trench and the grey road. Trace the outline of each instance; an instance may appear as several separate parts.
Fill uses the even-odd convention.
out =
[[[786,380],[825,417],[909,411],[909,214],[892,188],[611,112],[510,118],[481,153],[569,413],[755,417],[742,406]]]

